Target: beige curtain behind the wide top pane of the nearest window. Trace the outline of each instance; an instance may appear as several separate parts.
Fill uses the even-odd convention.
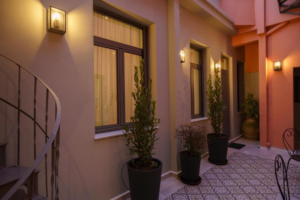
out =
[[[94,35],[143,48],[143,31],[141,29],[95,12]]]

